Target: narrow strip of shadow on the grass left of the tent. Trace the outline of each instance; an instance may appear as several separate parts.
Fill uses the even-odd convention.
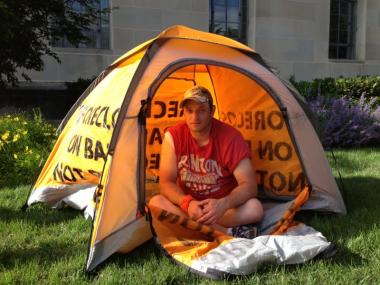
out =
[[[33,205],[26,211],[22,211],[21,209],[0,206],[0,217],[5,222],[27,221],[36,225],[51,225],[82,215],[82,212],[72,208],[57,210],[44,205]]]

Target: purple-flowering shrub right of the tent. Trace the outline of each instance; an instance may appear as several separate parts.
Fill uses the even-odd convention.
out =
[[[357,102],[348,96],[317,96],[309,101],[317,115],[324,147],[380,145],[380,106],[362,95]]]

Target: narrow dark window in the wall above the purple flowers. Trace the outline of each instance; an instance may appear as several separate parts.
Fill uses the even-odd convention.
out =
[[[356,0],[331,0],[329,58],[355,58]]]

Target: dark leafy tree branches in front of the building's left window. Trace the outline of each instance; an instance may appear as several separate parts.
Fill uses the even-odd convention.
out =
[[[0,88],[17,85],[18,72],[41,71],[42,57],[52,56],[52,43],[62,37],[74,46],[86,43],[83,34],[96,23],[99,0],[0,0]]]

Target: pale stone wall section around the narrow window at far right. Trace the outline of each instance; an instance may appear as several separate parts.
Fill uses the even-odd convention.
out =
[[[378,0],[358,1],[355,60],[328,58],[330,0],[256,0],[255,6],[256,25],[250,26],[255,37],[248,44],[280,76],[311,80],[380,74]]]

